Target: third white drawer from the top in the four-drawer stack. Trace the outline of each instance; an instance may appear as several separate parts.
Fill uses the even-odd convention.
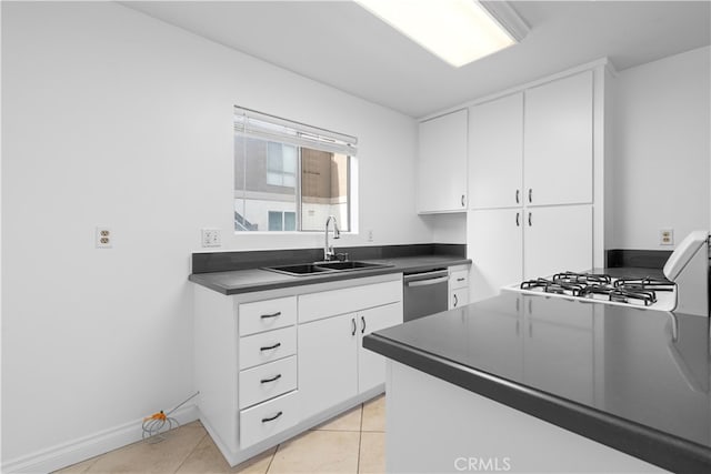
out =
[[[240,409],[254,405],[297,387],[297,356],[240,372]]]

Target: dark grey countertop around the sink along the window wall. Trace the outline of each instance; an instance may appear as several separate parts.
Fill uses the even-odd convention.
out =
[[[370,259],[365,261],[383,263],[390,266],[372,270],[319,273],[304,276],[291,276],[270,272],[269,270],[248,269],[229,272],[193,273],[189,276],[189,280],[222,294],[239,294],[471,263],[471,260],[457,255],[401,256],[392,259]],[[278,262],[274,263],[274,265],[278,264]]]

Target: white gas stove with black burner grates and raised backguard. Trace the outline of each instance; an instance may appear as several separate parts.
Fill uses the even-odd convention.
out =
[[[665,278],[615,279],[601,273],[562,272],[504,290],[709,316],[708,231],[692,232],[680,242],[663,274]]]

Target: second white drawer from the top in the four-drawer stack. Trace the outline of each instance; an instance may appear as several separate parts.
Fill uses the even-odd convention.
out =
[[[282,327],[240,339],[240,370],[297,353],[297,326]]]

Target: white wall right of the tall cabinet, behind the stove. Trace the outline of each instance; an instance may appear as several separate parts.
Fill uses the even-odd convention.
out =
[[[668,249],[659,230],[709,229],[711,48],[621,71],[614,103],[613,246]]]

